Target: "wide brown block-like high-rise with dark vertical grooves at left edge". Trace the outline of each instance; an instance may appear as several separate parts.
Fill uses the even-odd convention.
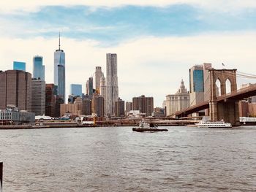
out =
[[[31,74],[20,70],[0,71],[0,110],[7,106],[31,112]]]

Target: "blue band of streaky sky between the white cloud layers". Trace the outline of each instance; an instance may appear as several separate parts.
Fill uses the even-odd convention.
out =
[[[187,4],[169,7],[126,6],[110,9],[86,6],[47,6],[23,15],[0,15],[0,36],[13,38],[58,36],[94,39],[102,46],[138,37],[186,37],[222,31],[256,30],[256,9],[250,12],[208,12]]]

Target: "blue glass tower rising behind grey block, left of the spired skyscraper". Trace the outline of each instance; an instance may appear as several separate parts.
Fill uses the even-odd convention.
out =
[[[42,65],[42,56],[36,55],[33,58],[33,77],[44,81],[45,80],[45,66]]]

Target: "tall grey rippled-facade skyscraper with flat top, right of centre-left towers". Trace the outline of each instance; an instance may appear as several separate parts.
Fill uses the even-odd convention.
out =
[[[114,115],[118,100],[117,55],[107,53],[106,114]]]

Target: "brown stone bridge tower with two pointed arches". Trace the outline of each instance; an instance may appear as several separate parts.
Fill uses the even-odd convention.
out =
[[[239,124],[238,101],[226,99],[225,101],[217,102],[217,85],[220,82],[220,96],[226,94],[226,82],[230,81],[230,91],[237,90],[236,84],[236,69],[209,69],[210,73],[210,101],[209,112],[211,120],[225,120],[233,126]]]

